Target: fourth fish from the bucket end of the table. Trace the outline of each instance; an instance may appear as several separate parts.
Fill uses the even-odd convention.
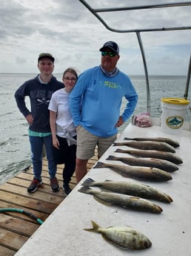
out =
[[[155,158],[114,157],[110,155],[106,160],[121,161],[127,165],[153,167],[168,172],[178,171],[178,166],[174,163]]]

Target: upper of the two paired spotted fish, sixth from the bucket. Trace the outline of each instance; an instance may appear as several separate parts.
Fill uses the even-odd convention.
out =
[[[129,181],[95,181],[91,178],[87,178],[87,180],[84,180],[81,186],[97,186],[101,189],[107,189],[109,191],[114,191],[119,194],[128,194],[135,197],[158,200],[163,203],[171,203],[173,201],[168,194],[165,194],[164,192],[159,191],[152,186],[141,183],[133,183]]]

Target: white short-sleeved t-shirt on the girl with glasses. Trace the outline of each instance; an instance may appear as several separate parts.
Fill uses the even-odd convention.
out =
[[[64,88],[54,92],[48,106],[50,111],[56,112],[56,134],[59,137],[66,137],[66,132],[70,133],[71,137],[76,135],[69,108],[69,95]]]

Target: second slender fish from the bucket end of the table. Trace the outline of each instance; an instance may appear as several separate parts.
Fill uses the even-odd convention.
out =
[[[157,142],[157,141],[130,141],[130,142],[113,142],[113,145],[127,145],[130,148],[137,148],[143,150],[157,150],[157,151],[166,151],[175,153],[175,148],[166,142]]]

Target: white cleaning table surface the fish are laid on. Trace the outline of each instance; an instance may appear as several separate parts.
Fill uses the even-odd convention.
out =
[[[180,148],[175,149],[175,154],[178,154],[184,163],[178,165],[178,171],[171,173],[172,180],[152,183],[132,179],[170,194],[173,202],[168,204],[153,201],[163,209],[161,214],[104,206],[94,200],[93,195],[78,192],[80,183],[27,240],[16,256],[191,255],[191,132],[184,130],[174,136],[164,134],[156,125],[151,128],[129,125],[117,141],[122,141],[124,137],[169,137],[179,142]],[[111,146],[101,157],[101,162],[124,165],[121,162],[105,160],[109,154],[130,157],[128,154],[113,153],[116,148],[118,147]],[[109,168],[92,168],[84,180],[87,177],[97,181],[131,180],[121,177]],[[147,235],[153,245],[150,249],[141,251],[118,249],[104,240],[101,234],[83,230],[92,227],[91,220],[103,227],[132,226]]]

